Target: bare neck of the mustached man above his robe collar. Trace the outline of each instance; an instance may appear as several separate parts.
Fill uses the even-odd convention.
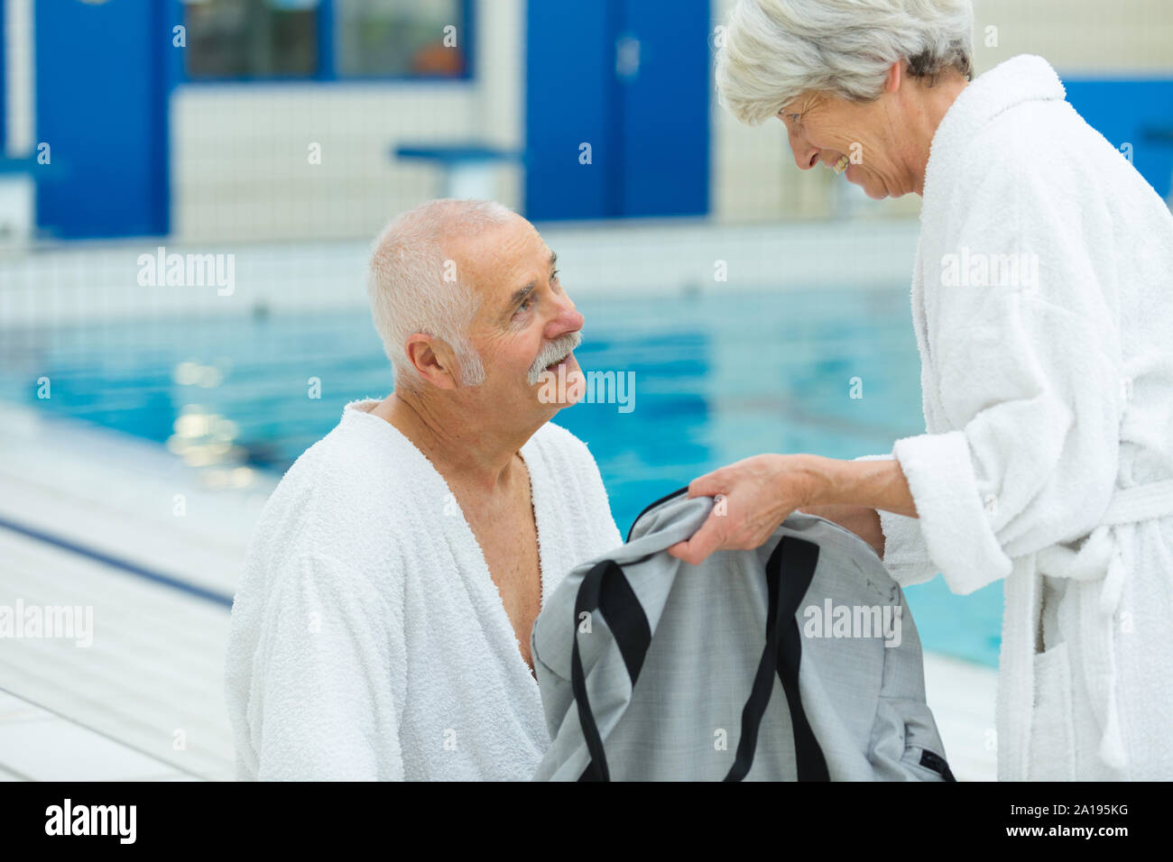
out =
[[[371,413],[411,440],[449,484],[487,495],[509,487],[518,449],[534,433],[502,429],[455,405],[407,392],[392,392]]]

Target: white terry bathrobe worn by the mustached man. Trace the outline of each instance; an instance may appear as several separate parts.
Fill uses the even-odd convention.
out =
[[[266,504],[232,605],[239,779],[529,780],[537,681],[443,477],[355,401]],[[547,422],[529,470],[542,603],[619,547],[586,446]]]

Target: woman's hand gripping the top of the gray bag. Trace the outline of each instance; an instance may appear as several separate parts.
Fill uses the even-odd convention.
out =
[[[827,477],[814,455],[754,455],[689,483],[689,496],[717,501],[691,538],[667,549],[698,565],[713,551],[750,550],[766,543],[791,513],[813,504]]]

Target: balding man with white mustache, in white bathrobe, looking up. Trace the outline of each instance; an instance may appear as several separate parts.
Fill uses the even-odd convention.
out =
[[[623,542],[543,385],[578,376],[583,318],[490,202],[394,219],[368,291],[395,391],[347,405],[262,515],[228,650],[238,778],[528,779],[534,618]]]

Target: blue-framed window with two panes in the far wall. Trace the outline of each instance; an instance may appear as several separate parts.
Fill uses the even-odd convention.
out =
[[[470,0],[184,0],[191,81],[466,77]]]

